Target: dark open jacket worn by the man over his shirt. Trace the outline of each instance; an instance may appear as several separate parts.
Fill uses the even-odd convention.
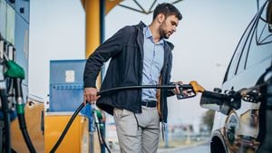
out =
[[[83,80],[84,88],[95,87],[96,77],[101,71],[103,62],[111,62],[102,81],[102,90],[115,87],[141,85],[143,65],[143,23],[125,26],[111,38],[102,43],[88,58]],[[170,83],[172,53],[174,45],[164,44],[164,63],[160,73],[160,84]],[[167,96],[173,95],[169,90],[160,90],[157,98],[160,101],[160,120],[167,122]],[[141,90],[117,91],[103,94],[96,101],[97,106],[112,114],[113,108],[141,112]]]

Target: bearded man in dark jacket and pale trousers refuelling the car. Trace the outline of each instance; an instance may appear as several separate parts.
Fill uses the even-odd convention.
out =
[[[171,4],[158,5],[150,25],[125,26],[89,57],[84,71],[84,100],[114,116],[121,152],[157,152],[160,121],[167,122],[170,90],[127,90],[97,97],[95,81],[103,62],[111,58],[102,90],[135,85],[170,84],[172,43],[182,16]],[[180,83],[180,82],[179,82]]]

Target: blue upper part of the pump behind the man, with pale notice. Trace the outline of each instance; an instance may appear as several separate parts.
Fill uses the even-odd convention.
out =
[[[49,111],[74,111],[81,105],[85,62],[86,60],[50,62]]]

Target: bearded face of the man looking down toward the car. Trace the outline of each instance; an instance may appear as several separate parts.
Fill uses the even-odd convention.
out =
[[[176,32],[178,25],[179,19],[175,15],[164,18],[159,27],[160,38],[168,39],[172,33]]]

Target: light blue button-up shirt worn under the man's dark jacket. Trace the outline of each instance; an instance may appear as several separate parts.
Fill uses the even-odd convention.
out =
[[[159,84],[160,71],[164,59],[164,40],[154,43],[151,30],[148,26],[143,28],[143,70],[142,85]],[[156,89],[142,89],[141,100],[157,100]]]

